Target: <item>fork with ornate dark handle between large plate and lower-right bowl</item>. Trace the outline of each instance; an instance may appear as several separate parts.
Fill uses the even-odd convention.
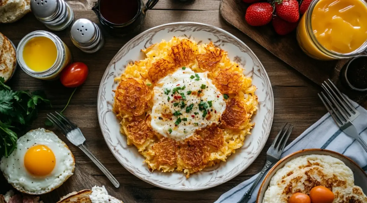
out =
[[[276,163],[279,161],[281,153],[284,150],[284,147],[286,146],[286,143],[288,141],[289,136],[292,133],[293,125],[288,123],[284,123],[283,127],[279,130],[279,133],[275,137],[275,140],[273,141],[273,144],[270,146],[268,152],[266,152],[266,164],[264,168],[262,168],[261,173],[256,178],[254,184],[252,184],[251,188],[248,189],[248,191],[243,195],[243,197],[237,202],[237,203],[247,203],[248,200],[250,200],[252,192],[254,191],[256,185],[259,183],[261,178],[265,175],[265,172],[270,168],[270,166],[273,165],[273,163]],[[284,130],[284,128],[287,128]],[[284,130],[284,133],[282,134]]]

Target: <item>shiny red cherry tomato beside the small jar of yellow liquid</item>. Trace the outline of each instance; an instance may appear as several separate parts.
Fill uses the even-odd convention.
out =
[[[68,88],[75,88],[86,81],[88,75],[88,67],[81,62],[69,64],[62,70],[60,74],[60,81],[63,86]]]

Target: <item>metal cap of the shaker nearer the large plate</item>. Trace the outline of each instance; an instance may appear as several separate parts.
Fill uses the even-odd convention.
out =
[[[81,18],[74,22],[70,30],[70,36],[77,43],[89,44],[95,38],[96,27],[88,19]]]

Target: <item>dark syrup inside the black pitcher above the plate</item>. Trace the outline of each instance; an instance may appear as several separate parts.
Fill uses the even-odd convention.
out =
[[[106,21],[113,24],[129,22],[139,11],[137,0],[102,0],[99,12]]]

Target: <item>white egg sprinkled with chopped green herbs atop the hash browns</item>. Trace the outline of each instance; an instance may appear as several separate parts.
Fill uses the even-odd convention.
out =
[[[197,129],[219,123],[226,102],[207,73],[182,67],[158,81],[150,122],[156,132],[182,141]]]

